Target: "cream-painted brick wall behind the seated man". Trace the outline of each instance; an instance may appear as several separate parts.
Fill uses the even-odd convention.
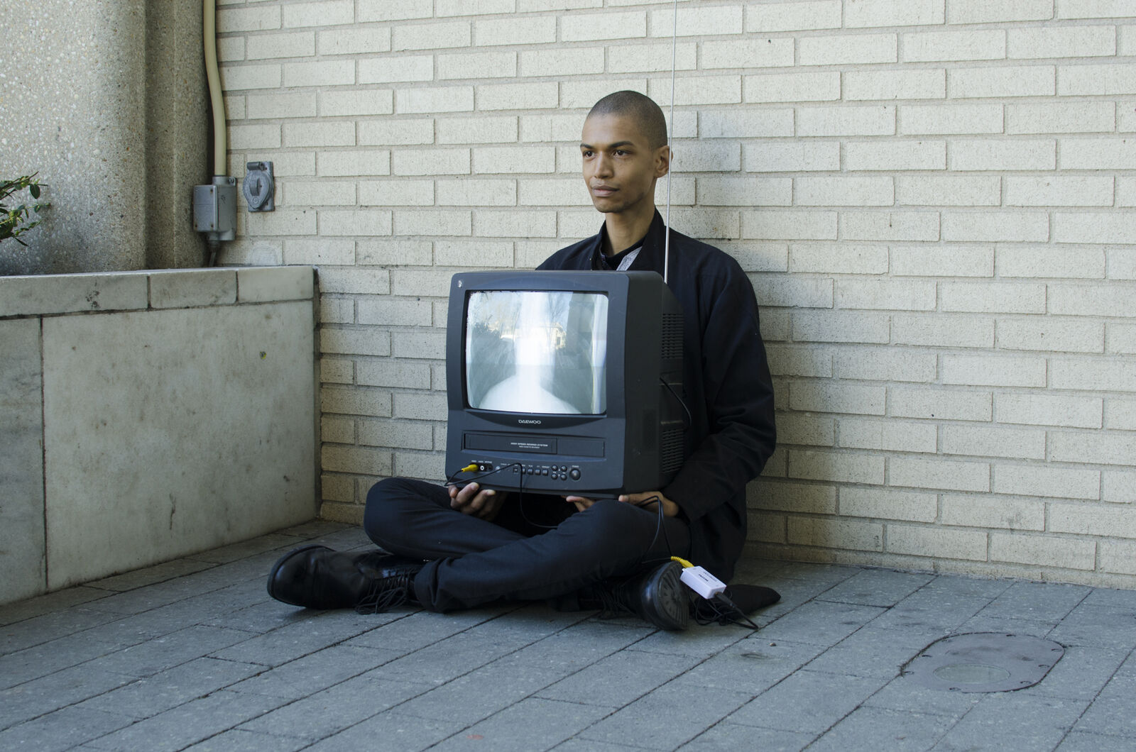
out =
[[[570,8],[566,10],[566,8]],[[324,515],[444,475],[445,294],[592,234],[587,107],[668,0],[228,2],[232,264],[320,267]],[[750,273],[776,557],[1136,585],[1136,3],[685,0],[676,227]],[[660,193],[661,197],[661,193]]]

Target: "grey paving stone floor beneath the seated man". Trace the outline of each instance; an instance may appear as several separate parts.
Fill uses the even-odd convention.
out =
[[[1136,592],[746,562],[761,629],[502,605],[316,612],[265,575],[311,523],[0,607],[0,750],[1136,750]],[[919,688],[949,635],[1066,646],[1018,692]]]

